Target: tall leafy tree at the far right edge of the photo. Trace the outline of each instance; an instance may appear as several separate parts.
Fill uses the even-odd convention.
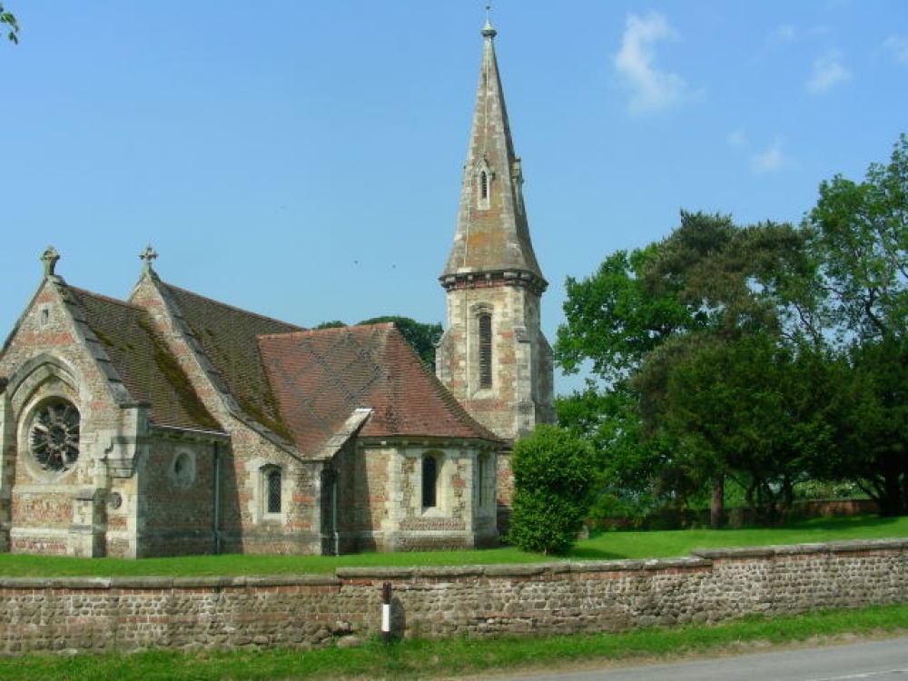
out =
[[[864,181],[820,186],[809,213],[812,320],[846,364],[830,476],[854,480],[884,515],[908,513],[908,137]]]

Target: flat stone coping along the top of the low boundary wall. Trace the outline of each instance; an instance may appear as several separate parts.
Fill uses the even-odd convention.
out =
[[[709,568],[716,561],[772,558],[813,554],[846,554],[865,551],[908,550],[908,538],[861,539],[817,544],[793,544],[744,548],[695,549],[690,557],[646,560],[583,560],[498,565],[437,566],[411,568],[336,568],[333,575],[246,575],[225,577],[2,577],[0,588],[8,589],[224,589],[262,587],[341,587],[357,581],[410,579],[531,578],[568,573],[641,572]]]

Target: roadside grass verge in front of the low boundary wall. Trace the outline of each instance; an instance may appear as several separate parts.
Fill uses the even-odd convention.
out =
[[[748,652],[766,646],[815,645],[848,637],[886,637],[908,631],[908,606],[798,617],[752,617],[706,626],[642,629],[620,634],[498,639],[406,640],[352,649],[240,650],[129,656],[0,658],[0,678],[41,681],[207,681],[209,679],[426,679],[489,676],[557,666],[605,666],[693,655]]]

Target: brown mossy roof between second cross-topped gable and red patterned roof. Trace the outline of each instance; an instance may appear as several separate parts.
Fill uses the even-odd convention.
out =
[[[263,426],[286,436],[256,339],[266,334],[301,331],[302,327],[212,301],[170,284],[161,282],[159,286],[176,303],[177,312],[240,408]]]

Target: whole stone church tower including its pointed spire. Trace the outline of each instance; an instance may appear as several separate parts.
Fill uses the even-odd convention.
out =
[[[552,353],[539,326],[548,282],[529,238],[495,35],[487,20],[457,229],[439,277],[448,325],[437,367],[441,382],[475,419],[512,440],[555,415]]]

